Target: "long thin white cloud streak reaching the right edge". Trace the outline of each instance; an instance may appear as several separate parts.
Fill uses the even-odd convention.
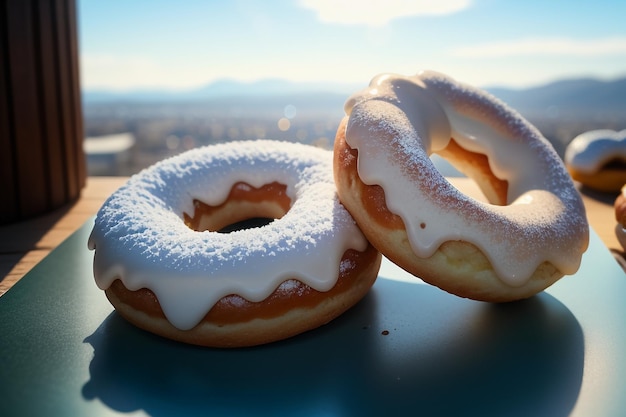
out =
[[[520,55],[600,56],[626,54],[626,37],[578,40],[572,38],[528,38],[489,42],[458,48],[462,57],[506,57]]]

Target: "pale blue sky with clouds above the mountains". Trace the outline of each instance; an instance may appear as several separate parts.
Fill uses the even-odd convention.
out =
[[[626,76],[623,0],[78,0],[78,8],[86,89],[183,90],[223,78],[367,84],[421,69],[478,86]]]

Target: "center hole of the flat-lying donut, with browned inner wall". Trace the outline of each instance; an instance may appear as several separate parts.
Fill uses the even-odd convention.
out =
[[[231,233],[263,227],[282,218],[291,207],[287,186],[278,182],[253,187],[233,185],[226,200],[217,206],[194,200],[194,213],[184,213],[185,224],[197,232]]]

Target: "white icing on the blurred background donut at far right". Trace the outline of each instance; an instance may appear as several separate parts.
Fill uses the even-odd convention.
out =
[[[626,129],[581,133],[567,145],[564,159],[572,169],[585,174],[598,172],[613,159],[626,161]]]

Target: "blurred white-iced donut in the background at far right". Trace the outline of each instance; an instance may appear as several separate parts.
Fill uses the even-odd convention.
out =
[[[619,192],[626,184],[626,129],[590,130],[565,149],[565,166],[572,178],[603,192]]]

